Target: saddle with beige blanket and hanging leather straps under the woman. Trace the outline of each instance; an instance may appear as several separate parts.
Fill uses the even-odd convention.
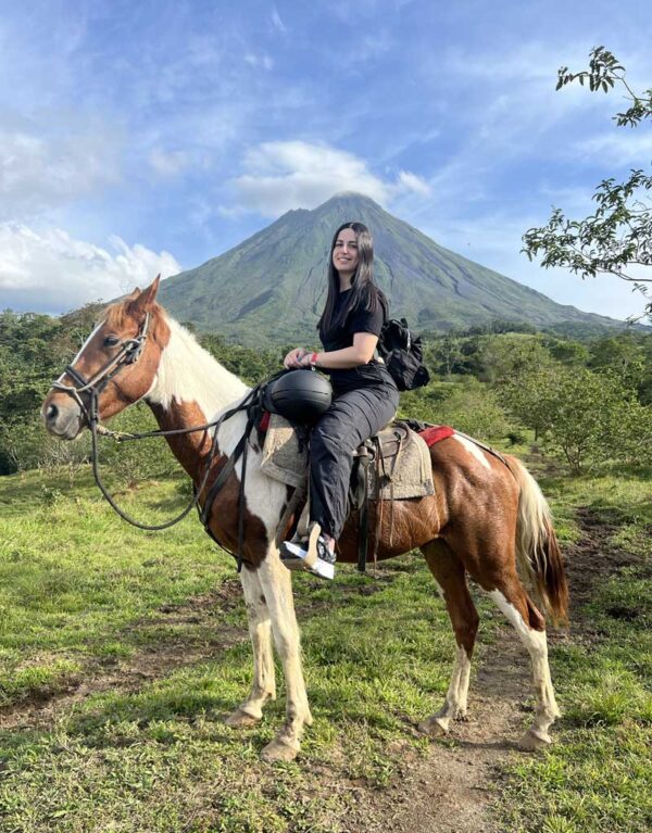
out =
[[[281,521],[280,528],[285,527],[308,491],[309,454],[305,439],[284,417],[272,415],[263,445],[261,470],[296,489],[286,509],[285,523]],[[368,501],[390,501],[391,512],[393,501],[431,495],[435,488],[428,445],[404,422],[390,422],[352,450],[352,454],[354,464],[349,503],[351,509],[359,510],[358,569],[364,571],[368,550]]]

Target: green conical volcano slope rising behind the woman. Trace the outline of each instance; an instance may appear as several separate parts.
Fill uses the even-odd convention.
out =
[[[326,264],[335,229],[360,219],[374,236],[375,275],[391,314],[417,330],[448,330],[496,319],[598,330],[622,326],[563,306],[443,249],[367,197],[337,194],[314,211],[284,214],[196,269],[168,278],[161,302],[181,321],[242,344],[316,341]]]

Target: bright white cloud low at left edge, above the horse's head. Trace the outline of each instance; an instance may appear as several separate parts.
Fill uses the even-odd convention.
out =
[[[60,228],[0,224],[0,308],[64,312],[181,270],[170,252],[129,247],[116,236],[109,244],[75,240]]]

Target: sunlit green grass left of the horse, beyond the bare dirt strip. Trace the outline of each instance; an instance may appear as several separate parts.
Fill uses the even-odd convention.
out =
[[[165,504],[158,509],[155,500]],[[175,482],[123,495],[150,518],[179,503]],[[71,489],[38,472],[0,479],[0,702],[43,694],[80,668],[129,656],[153,636],[163,604],[231,576],[195,518],[173,532],[123,522],[88,477]],[[67,669],[67,670],[66,670]]]

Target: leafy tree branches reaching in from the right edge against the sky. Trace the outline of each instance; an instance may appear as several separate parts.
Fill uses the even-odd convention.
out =
[[[652,88],[635,93],[625,77],[625,70],[604,47],[590,53],[589,68],[579,73],[559,71],[556,89],[578,80],[588,81],[592,92],[609,90],[616,85],[625,89],[630,106],[616,113],[618,127],[638,127],[652,117]],[[581,278],[598,274],[615,275],[629,281],[649,299],[645,276],[634,274],[632,267],[652,266],[652,176],[642,169],[632,169],[625,181],[615,178],[602,180],[595,188],[595,211],[584,219],[568,219],[561,209],[553,209],[548,225],[530,228],[523,236],[523,251],[534,260],[541,255],[541,265],[564,266]],[[652,301],[645,304],[645,314],[652,319]]]

